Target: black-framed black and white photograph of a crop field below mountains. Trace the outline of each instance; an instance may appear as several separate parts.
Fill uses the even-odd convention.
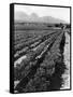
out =
[[[15,3],[11,14],[13,93],[70,91],[71,8]]]

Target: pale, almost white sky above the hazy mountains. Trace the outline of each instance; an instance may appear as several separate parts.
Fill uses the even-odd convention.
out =
[[[34,5],[19,5],[15,4],[15,12],[25,12],[30,15],[32,13],[39,16],[53,16],[70,23],[70,8],[55,8],[55,6],[34,6]]]

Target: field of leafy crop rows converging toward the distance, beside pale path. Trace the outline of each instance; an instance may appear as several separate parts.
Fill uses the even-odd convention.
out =
[[[14,92],[58,91],[64,72],[64,31],[15,30]]]

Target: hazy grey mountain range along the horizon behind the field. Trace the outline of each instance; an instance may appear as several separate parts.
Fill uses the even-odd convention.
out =
[[[49,24],[65,23],[62,19],[58,19],[52,16],[39,17],[35,13],[28,15],[25,12],[15,12],[15,20],[29,23],[49,23]]]

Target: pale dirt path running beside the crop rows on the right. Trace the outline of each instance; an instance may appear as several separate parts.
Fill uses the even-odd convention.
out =
[[[65,70],[62,74],[63,83],[61,89],[69,89],[70,88],[70,36],[65,32],[65,45],[64,45],[64,65]]]

